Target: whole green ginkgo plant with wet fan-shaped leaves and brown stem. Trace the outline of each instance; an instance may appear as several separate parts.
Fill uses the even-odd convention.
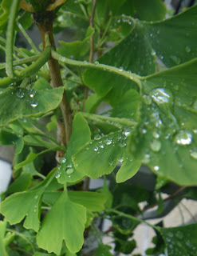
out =
[[[84,231],[97,236],[92,255],[112,255],[95,225],[103,218],[117,252],[132,253],[143,222],[156,231],[147,254],[197,255],[196,223],[145,221],[154,206],[158,218],[166,202],[197,198],[197,6],[164,19],[166,11],[160,0],[1,1],[0,142],[16,148],[1,256],[82,256]],[[39,49],[26,33],[32,20]],[[53,31],[64,30],[77,40],[56,47]],[[14,46],[19,32],[30,50]],[[95,114],[101,102],[110,109]],[[152,191],[122,183],[141,164],[156,178]],[[104,186],[89,191],[99,177]]]

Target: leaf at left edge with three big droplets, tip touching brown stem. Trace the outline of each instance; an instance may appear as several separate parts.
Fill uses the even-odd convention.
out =
[[[31,97],[31,91],[26,89],[6,88],[0,94],[0,104],[2,106],[0,125],[4,126],[22,116],[45,114],[57,108],[61,102],[62,94],[63,88],[56,88],[53,90],[37,90],[36,94]]]

